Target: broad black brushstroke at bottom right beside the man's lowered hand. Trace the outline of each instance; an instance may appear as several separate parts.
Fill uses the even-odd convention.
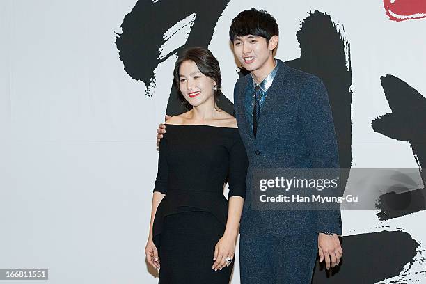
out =
[[[420,243],[402,231],[343,237],[340,265],[329,272],[317,259],[312,283],[370,284],[398,276],[404,265],[410,263],[411,267],[419,247]]]

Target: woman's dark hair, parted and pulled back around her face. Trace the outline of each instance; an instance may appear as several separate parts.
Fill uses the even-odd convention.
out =
[[[194,61],[200,70],[205,76],[210,77],[216,83],[216,88],[213,90],[214,102],[217,104],[219,102],[219,97],[221,95],[221,68],[219,68],[219,61],[216,57],[213,56],[212,52],[209,49],[203,47],[192,47],[184,50],[182,56],[178,58],[178,61],[175,63],[175,70],[173,71],[173,77],[175,80],[176,88],[179,90],[179,98],[182,100],[187,109],[192,109],[191,104],[185,100],[182,92],[180,91],[180,79],[179,79],[179,68],[182,62],[184,61]],[[216,108],[216,105],[214,106]]]

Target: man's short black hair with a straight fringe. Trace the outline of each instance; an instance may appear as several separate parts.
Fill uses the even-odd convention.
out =
[[[278,36],[278,24],[265,10],[244,10],[232,19],[229,38],[233,42],[237,37],[248,35],[261,36],[269,43],[273,36]]]

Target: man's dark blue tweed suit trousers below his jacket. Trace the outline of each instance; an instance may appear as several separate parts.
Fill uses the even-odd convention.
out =
[[[317,232],[276,237],[267,232],[259,212],[249,209],[239,239],[241,283],[309,284],[317,251]]]

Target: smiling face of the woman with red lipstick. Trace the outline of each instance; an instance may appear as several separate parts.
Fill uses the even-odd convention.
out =
[[[194,61],[180,64],[179,82],[180,92],[193,107],[210,101],[214,103],[213,88],[216,83],[201,73]]]

